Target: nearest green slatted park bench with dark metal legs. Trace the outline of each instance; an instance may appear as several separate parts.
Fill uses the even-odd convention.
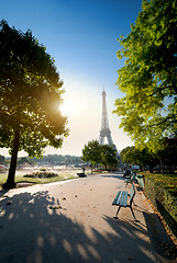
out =
[[[112,205],[119,206],[118,207],[118,211],[114,216],[115,219],[118,219],[118,213],[120,211],[121,207],[130,207],[132,215],[134,217],[134,220],[136,221],[135,215],[133,213],[132,209],[132,203],[133,203],[133,198],[135,196],[135,188],[134,188],[134,184],[132,183],[131,186],[131,191],[130,194],[128,193],[128,191],[119,191],[114,201],[112,202]]]

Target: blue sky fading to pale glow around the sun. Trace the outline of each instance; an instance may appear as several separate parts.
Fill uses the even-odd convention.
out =
[[[107,96],[109,128],[117,149],[133,141],[119,128],[113,114],[114,101],[123,94],[115,85],[123,61],[117,58],[120,44],[141,11],[142,0],[0,0],[0,20],[25,32],[31,30],[55,65],[64,81],[65,107],[69,136],[63,147],[47,147],[45,155],[81,156],[81,149],[99,139],[102,115],[102,91]],[[8,149],[0,148],[8,156]],[[27,156],[19,152],[19,157]]]

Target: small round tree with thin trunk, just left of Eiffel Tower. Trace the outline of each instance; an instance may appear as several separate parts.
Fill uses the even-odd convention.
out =
[[[81,159],[85,162],[88,162],[88,161],[91,162],[91,174],[92,174],[92,165],[95,163],[100,162],[100,155],[101,155],[101,148],[98,140],[88,141],[88,144],[85,145],[85,148],[82,149]]]

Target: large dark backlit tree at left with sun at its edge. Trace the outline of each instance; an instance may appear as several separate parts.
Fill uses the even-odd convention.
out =
[[[54,59],[31,31],[0,22],[0,147],[10,149],[4,187],[13,187],[18,151],[41,157],[49,145],[62,146],[67,119],[62,116],[63,81]]]

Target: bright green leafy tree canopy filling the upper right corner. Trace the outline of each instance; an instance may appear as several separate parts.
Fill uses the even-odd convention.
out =
[[[121,127],[135,145],[158,150],[163,137],[177,130],[177,2],[143,0],[131,33],[119,38],[117,84],[125,93],[115,101]]]

